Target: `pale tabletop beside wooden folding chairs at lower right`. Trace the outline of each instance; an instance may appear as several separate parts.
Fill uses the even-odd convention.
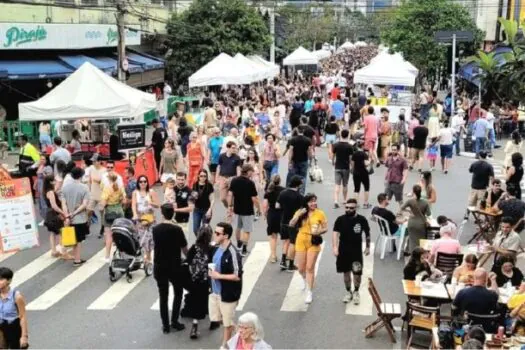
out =
[[[463,288],[468,287],[459,287],[459,285],[453,286],[451,284],[445,285],[443,283],[425,283],[421,282],[419,285],[416,284],[416,281],[402,280],[403,283],[403,292],[405,295],[413,298],[427,298],[427,299],[437,299],[437,300],[453,300],[456,297],[456,294]],[[508,294],[505,288],[499,288],[499,298],[498,303],[507,304],[510,297],[516,292],[516,288],[512,294]]]

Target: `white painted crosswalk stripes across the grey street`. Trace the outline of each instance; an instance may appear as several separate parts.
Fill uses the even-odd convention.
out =
[[[326,243],[323,243],[321,246],[321,252],[319,253],[319,258],[315,266],[316,275],[319,271],[319,266],[323,260],[323,253],[326,255],[325,250],[327,249]],[[261,281],[261,278],[269,274],[280,274],[279,267],[277,264],[270,264],[270,245],[268,242],[255,242],[250,254],[247,258],[244,259],[244,274],[243,274],[243,290],[237,310],[241,311],[246,308],[246,305],[250,303],[253,304],[253,300],[250,299],[250,296],[253,294],[254,290],[257,288],[257,284]],[[10,254],[9,256],[0,256],[3,258],[3,264],[9,265],[9,258],[13,257],[16,254]],[[363,280],[362,280],[362,293],[361,293],[361,304],[360,305],[348,305],[345,313],[347,315],[372,315],[373,305],[372,301],[366,290],[366,281],[368,277],[373,276],[373,266],[374,266],[374,246],[371,246],[371,252],[369,256],[364,258],[364,271],[363,271]],[[134,271],[132,273],[133,279],[128,282],[126,278],[120,278],[115,282],[110,282],[107,278],[107,287],[103,289],[96,288],[96,295],[90,295],[90,278],[100,279],[100,274],[107,273],[107,263],[104,261],[104,249],[96,252],[90,259],[87,260],[80,267],[71,267],[64,269],[67,271],[64,273],[64,276],[58,279],[58,281],[50,286],[46,286],[46,289],[42,290],[37,295],[31,295],[31,298],[28,300],[27,309],[29,311],[37,310],[50,310],[53,306],[60,304],[60,302],[68,297],[75,296],[75,293],[82,294],[81,302],[74,302],[74,305],[81,306],[91,311],[102,311],[102,310],[113,310],[119,307],[121,304],[125,304],[126,298],[133,298],[135,296],[130,296],[134,290],[140,289],[144,291],[144,287],[139,288],[143,285],[145,281],[149,281],[148,284],[152,289],[155,288],[153,277],[147,278],[143,270]],[[48,269],[53,264],[63,264],[64,261],[51,257],[51,252],[47,251],[42,255],[36,256],[32,261],[29,261],[25,266],[15,271],[15,278],[13,279],[12,286],[21,288],[21,291],[24,293],[29,292],[32,288],[31,282],[35,277],[42,278],[45,276],[46,269]],[[268,268],[266,268],[268,267]],[[51,273],[56,273],[57,269],[53,268],[49,271]],[[99,277],[94,277],[95,274],[99,273]],[[62,273],[62,272],[61,272]],[[282,276],[282,274],[281,274]],[[305,294],[303,291],[303,281],[302,277],[298,272],[295,272],[293,275],[285,274],[285,276],[290,276],[290,282],[286,293],[282,295],[282,299],[277,299],[273,307],[279,309],[283,312],[306,312],[312,305],[315,305],[315,293],[313,304],[305,304]],[[54,277],[56,278],[56,276]],[[273,277],[270,277],[273,278]],[[106,279],[106,277],[104,278]],[[318,276],[318,281],[322,279],[322,275]],[[97,286],[99,286],[98,284]],[[27,292],[24,289],[27,288]],[[30,294],[30,293],[29,293]],[[94,292],[92,294],[95,294]],[[186,294],[186,292],[185,292]],[[88,300],[85,300],[85,298]],[[145,299],[145,307],[147,308],[150,305],[150,310],[159,310],[159,300],[153,299],[152,293],[147,294]],[[148,302],[148,298],[151,298]],[[65,301],[63,301],[65,302]],[[69,303],[70,301],[67,301]],[[149,303],[152,304],[149,304]],[[334,296],[334,303],[340,303],[340,297]],[[169,305],[171,307],[173,303],[173,291],[170,288],[169,294]],[[87,306],[86,306],[87,305]],[[272,307],[268,305],[268,307]]]

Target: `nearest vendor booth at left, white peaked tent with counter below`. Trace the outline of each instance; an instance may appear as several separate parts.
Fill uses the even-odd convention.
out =
[[[145,150],[142,117],[156,106],[155,95],[123,84],[86,62],[45,96],[37,101],[20,103],[18,108],[20,120],[23,121],[58,120],[57,128],[64,141],[70,141],[73,130],[79,130],[83,137],[80,140],[82,148],[72,154],[79,163],[94,152],[108,157],[110,149],[116,155],[121,151],[139,152],[133,161],[145,166],[142,171],[136,169],[136,173],[147,175],[150,183],[155,183],[155,162],[153,155],[149,154],[151,151]],[[109,123],[115,119],[120,123],[110,133]],[[83,127],[87,123],[90,125],[84,133]],[[49,149],[48,153],[51,151]],[[114,154],[111,156],[119,159],[114,158]],[[128,166],[130,160],[115,162],[116,169]],[[120,175],[124,175],[123,171]]]

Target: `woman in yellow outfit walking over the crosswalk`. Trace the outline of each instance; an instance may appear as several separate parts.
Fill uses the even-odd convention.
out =
[[[299,274],[303,277],[306,290],[305,303],[310,304],[315,282],[315,264],[323,242],[321,235],[328,228],[325,213],[317,208],[315,194],[308,193],[304,197],[304,206],[295,212],[290,226],[298,228],[295,240],[295,262]]]

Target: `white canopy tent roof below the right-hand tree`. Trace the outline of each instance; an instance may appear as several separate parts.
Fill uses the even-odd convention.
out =
[[[355,84],[414,86],[416,76],[401,64],[370,64],[354,73]]]

